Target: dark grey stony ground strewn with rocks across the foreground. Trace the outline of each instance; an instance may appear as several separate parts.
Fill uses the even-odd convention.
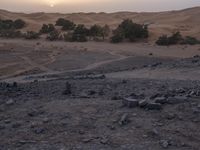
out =
[[[199,56],[153,60],[139,65],[127,58],[54,79],[46,75],[45,81],[2,81],[0,149],[199,150],[199,80],[109,74],[144,68],[188,71],[200,65]]]

